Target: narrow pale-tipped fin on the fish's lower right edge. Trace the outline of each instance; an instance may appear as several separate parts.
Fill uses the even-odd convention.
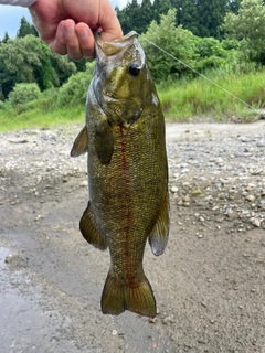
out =
[[[161,255],[168,244],[169,237],[169,194],[168,191],[165,194],[163,202],[161,204],[160,212],[158,214],[157,223],[155,224],[148,240],[152,250],[152,254]]]

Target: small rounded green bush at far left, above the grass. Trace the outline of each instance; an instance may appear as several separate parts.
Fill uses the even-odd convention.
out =
[[[17,107],[38,99],[40,95],[41,90],[36,84],[15,84],[13,90],[9,94],[8,101],[12,107]]]

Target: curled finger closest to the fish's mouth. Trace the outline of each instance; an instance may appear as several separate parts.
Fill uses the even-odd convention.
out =
[[[75,33],[80,41],[80,47],[83,56],[86,58],[95,57],[95,41],[94,35],[86,23],[77,23],[75,26]]]

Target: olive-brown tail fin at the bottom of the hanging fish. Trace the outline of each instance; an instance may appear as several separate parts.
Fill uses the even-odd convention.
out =
[[[118,315],[125,310],[155,318],[157,307],[151,286],[145,275],[137,285],[130,287],[109,272],[102,295],[102,311]]]

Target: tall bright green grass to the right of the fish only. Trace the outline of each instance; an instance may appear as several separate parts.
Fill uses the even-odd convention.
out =
[[[158,85],[158,94],[166,118],[186,121],[200,116],[214,121],[225,121],[232,116],[236,116],[242,121],[252,121],[258,116],[254,109],[265,106],[265,72],[224,77],[215,75],[209,78],[218,86],[203,77],[191,82],[180,81],[167,86],[165,84]]]

